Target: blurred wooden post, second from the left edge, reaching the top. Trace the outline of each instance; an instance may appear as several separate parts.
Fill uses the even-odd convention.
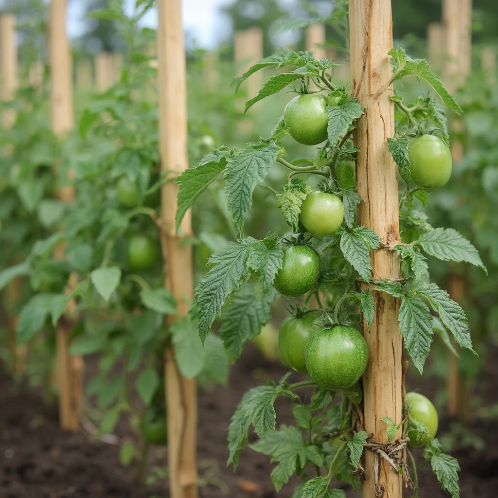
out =
[[[51,0],[49,11],[50,116],[55,134],[63,137],[73,127],[72,63],[66,34],[66,0]],[[74,197],[72,188],[63,188],[59,199],[68,202]],[[63,247],[57,248],[59,257]],[[74,279],[74,276],[73,276]],[[75,303],[68,305],[74,311]],[[83,361],[70,355],[71,323],[64,316],[57,326],[57,358],[59,371],[59,423],[65,430],[76,432],[80,426]]]

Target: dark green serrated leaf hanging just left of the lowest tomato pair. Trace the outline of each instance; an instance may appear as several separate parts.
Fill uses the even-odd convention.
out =
[[[270,303],[276,293],[264,294],[254,285],[236,292],[222,313],[220,336],[232,361],[242,353],[244,343],[253,339],[269,320]]]

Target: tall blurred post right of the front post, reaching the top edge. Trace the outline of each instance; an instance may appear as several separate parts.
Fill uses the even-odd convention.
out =
[[[443,0],[443,24],[445,31],[445,82],[448,89],[454,92],[465,82],[471,69],[471,15],[472,0]],[[462,121],[452,121],[454,130],[462,129]],[[463,157],[463,145],[459,140],[451,143],[451,154],[456,163]],[[464,298],[465,282],[460,275],[453,274],[450,266],[449,293],[457,302]],[[457,417],[461,413],[463,381],[458,373],[458,359],[448,352],[448,415]]]

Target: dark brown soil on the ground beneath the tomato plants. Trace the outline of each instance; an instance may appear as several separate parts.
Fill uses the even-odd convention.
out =
[[[498,369],[490,354],[488,397],[496,402],[494,386]],[[278,365],[266,362],[249,346],[231,372],[228,389],[199,393],[199,463],[203,478],[203,498],[273,498],[276,493],[269,481],[272,465],[269,459],[250,449],[241,456],[237,472],[226,468],[226,431],[237,403],[251,386],[267,377],[277,379],[282,373]],[[435,392],[437,382],[410,380],[410,388]],[[486,399],[486,398],[485,398]],[[277,423],[290,422],[285,400],[277,403]],[[491,404],[491,403],[490,403]],[[444,421],[440,434],[448,427]],[[47,407],[36,393],[16,385],[5,373],[0,374],[0,498],[158,498],[167,497],[166,481],[151,486],[137,486],[134,472],[120,465],[117,446],[101,441],[91,442],[85,433],[67,434],[59,430],[55,406]],[[474,434],[486,442],[482,450],[455,449],[462,467],[462,496],[491,498],[498,490],[498,436],[494,423],[474,423]],[[458,441],[457,441],[458,443]],[[162,450],[164,455],[164,450]],[[165,464],[159,455],[155,465]],[[214,476],[214,477],[213,477]],[[220,480],[223,484],[216,484]],[[439,489],[429,466],[419,468],[421,498],[446,497]],[[206,484],[211,483],[211,484]],[[292,486],[285,487],[278,497],[289,498]],[[353,496],[353,495],[351,495]],[[407,496],[410,496],[407,494]]]

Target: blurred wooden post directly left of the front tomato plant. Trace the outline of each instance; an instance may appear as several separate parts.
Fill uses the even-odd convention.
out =
[[[188,168],[181,0],[158,0],[157,13],[161,169],[181,172]],[[177,235],[177,193],[178,187],[172,181],[161,189],[161,244],[165,285],[177,299],[179,315],[185,316],[193,298],[192,246],[182,245],[181,240],[191,233],[191,217],[186,214]],[[197,387],[195,379],[186,379],[178,371],[172,346],[165,352],[165,377],[170,496],[197,498]]]

